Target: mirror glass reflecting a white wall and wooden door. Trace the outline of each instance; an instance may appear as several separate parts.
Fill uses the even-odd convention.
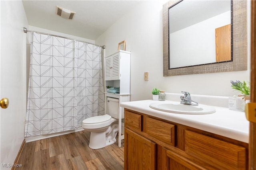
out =
[[[229,62],[232,1],[182,0],[169,15],[169,69]]]

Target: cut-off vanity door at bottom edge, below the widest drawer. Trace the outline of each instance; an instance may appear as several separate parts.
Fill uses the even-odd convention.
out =
[[[166,149],[164,149],[163,160],[167,170],[206,170],[206,168],[196,164],[188,158]]]

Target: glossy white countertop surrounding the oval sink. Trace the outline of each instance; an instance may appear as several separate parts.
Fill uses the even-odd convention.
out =
[[[120,106],[145,113],[147,115],[159,117],[161,119],[249,143],[249,121],[246,119],[245,113],[242,111],[233,111],[226,107],[214,106],[216,109],[215,113],[206,115],[188,115],[152,109],[149,107],[149,105],[153,102],[173,103],[173,101],[140,100],[134,102],[122,102],[120,103]]]

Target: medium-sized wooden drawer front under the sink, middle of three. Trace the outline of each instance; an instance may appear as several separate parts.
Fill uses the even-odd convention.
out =
[[[144,132],[168,145],[175,144],[175,125],[150,117],[145,118]]]

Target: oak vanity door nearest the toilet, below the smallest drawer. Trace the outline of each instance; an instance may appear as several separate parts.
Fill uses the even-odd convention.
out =
[[[155,170],[156,144],[125,128],[124,169]]]

